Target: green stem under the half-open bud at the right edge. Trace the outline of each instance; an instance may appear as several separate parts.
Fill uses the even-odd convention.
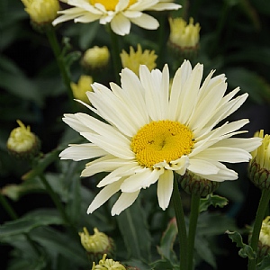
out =
[[[254,222],[252,236],[250,240],[250,247],[257,253],[257,244],[259,241],[260,230],[262,228],[262,223],[266,215],[266,209],[270,200],[270,191],[264,189],[261,195],[259,205],[257,207],[257,215]],[[256,259],[248,258],[248,270],[255,270],[257,265]]]

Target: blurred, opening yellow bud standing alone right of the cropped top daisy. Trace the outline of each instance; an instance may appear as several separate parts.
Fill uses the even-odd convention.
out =
[[[200,24],[193,24],[193,18],[187,24],[182,18],[169,18],[170,36],[168,46],[181,58],[193,58],[197,55],[200,40]]]

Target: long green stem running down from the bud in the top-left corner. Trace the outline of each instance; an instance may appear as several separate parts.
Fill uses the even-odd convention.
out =
[[[73,112],[76,112],[76,103],[74,102],[73,92],[72,92],[72,89],[70,86],[70,82],[71,82],[70,76],[68,74],[67,67],[65,66],[64,58],[61,55],[61,49],[60,49],[60,46],[58,43],[55,29],[53,27],[49,27],[49,29],[47,29],[47,31],[46,31],[46,34],[47,34],[47,37],[49,40],[50,47],[51,47],[53,54],[57,60],[58,68],[60,70],[62,80],[67,87],[67,96],[68,96],[68,100],[70,103],[70,107],[71,107]]]

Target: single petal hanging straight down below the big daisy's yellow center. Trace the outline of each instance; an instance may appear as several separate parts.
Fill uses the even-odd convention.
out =
[[[157,199],[159,206],[166,210],[173,192],[174,173],[170,170],[165,170],[164,174],[159,176],[157,182]]]

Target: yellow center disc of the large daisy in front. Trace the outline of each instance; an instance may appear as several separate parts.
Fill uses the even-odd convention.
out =
[[[152,121],[131,139],[131,149],[140,166],[176,160],[192,151],[193,132],[178,121]]]

